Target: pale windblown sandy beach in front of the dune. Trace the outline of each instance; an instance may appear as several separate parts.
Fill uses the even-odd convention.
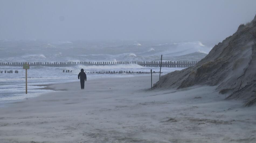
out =
[[[150,91],[149,76],[79,84],[1,108],[0,142],[256,142],[256,107],[216,87]]]

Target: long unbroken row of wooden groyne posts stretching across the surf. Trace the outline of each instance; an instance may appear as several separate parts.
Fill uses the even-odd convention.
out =
[[[26,62],[0,62],[0,66],[22,66]],[[144,61],[144,62],[27,62],[30,66],[52,66],[52,67],[70,67],[76,65],[119,65],[119,64],[137,64],[147,67],[191,67],[194,66],[197,61]]]

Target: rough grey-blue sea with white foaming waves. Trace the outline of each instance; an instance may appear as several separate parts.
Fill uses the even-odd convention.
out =
[[[200,61],[214,46],[214,42],[172,42],[172,41],[46,41],[46,40],[0,40],[0,62],[139,62],[139,61]],[[106,71],[159,72],[160,67],[143,67],[137,64],[46,67],[30,66],[27,70],[28,93],[25,94],[25,70],[18,66],[1,66],[0,71],[12,70],[13,73],[0,73],[0,107],[55,92],[40,89],[46,84],[79,81],[81,69],[87,72],[87,82],[96,78],[150,76],[150,74],[95,74]],[[161,75],[179,67],[162,67]],[[14,73],[18,70],[19,73]],[[72,70],[72,73],[63,73]],[[95,72],[95,73],[93,73]],[[159,73],[155,73],[159,74]],[[78,85],[79,86],[79,85]]]

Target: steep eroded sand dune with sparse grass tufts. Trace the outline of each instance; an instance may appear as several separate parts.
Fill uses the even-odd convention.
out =
[[[245,106],[256,103],[256,16],[237,32],[215,45],[195,66],[161,76],[157,88],[216,86],[227,99],[241,99]]]

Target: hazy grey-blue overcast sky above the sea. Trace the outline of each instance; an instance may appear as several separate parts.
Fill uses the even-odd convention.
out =
[[[0,0],[0,39],[222,41],[255,0]]]

